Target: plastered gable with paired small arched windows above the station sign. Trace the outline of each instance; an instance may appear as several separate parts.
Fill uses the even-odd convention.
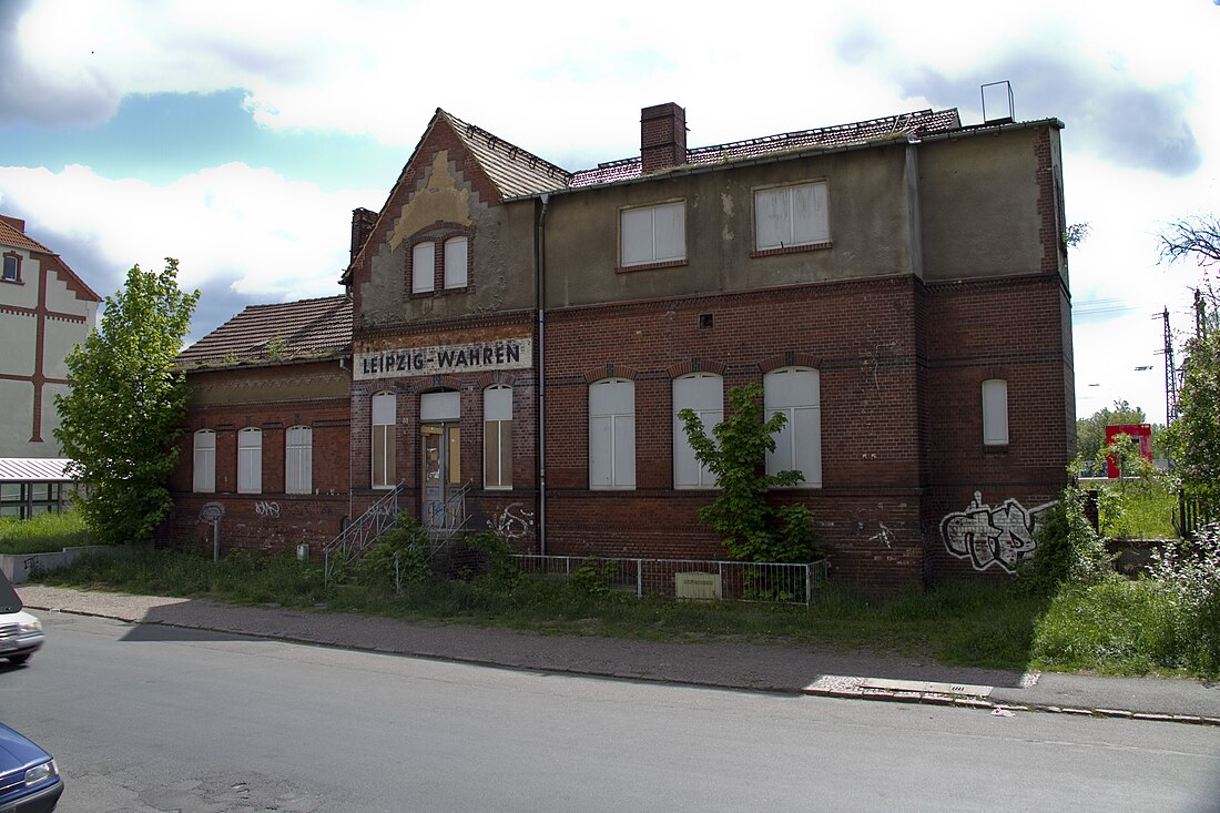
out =
[[[353,214],[357,332],[529,308],[534,205],[571,173],[437,109],[379,212]]]

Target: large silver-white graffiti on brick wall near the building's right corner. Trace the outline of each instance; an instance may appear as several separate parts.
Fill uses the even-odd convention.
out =
[[[975,570],[998,566],[1015,573],[1016,563],[1033,555],[1037,543],[1033,530],[1038,518],[1054,503],[1026,509],[1009,498],[994,508],[982,500],[982,493],[964,511],[954,511],[941,520],[944,547],[959,559],[970,559]]]

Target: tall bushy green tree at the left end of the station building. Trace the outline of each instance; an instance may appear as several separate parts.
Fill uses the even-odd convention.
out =
[[[172,505],[165,482],[187,409],[174,356],[199,299],[178,289],[177,275],[170,258],[160,273],[127,272],[98,330],[67,358],[70,394],[55,398],[55,438],[88,486],[78,502],[101,542],[151,540]]]

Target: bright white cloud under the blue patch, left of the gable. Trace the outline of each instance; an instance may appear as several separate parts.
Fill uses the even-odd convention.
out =
[[[111,267],[160,269],[173,256],[184,288],[206,295],[221,286],[262,302],[339,293],[351,209],[383,194],[325,193],[243,164],[167,186],[113,181],[79,165],[0,167],[0,209],[90,243]]]

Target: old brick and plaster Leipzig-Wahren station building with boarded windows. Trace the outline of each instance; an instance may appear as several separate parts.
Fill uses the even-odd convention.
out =
[[[218,338],[248,309],[206,369],[183,355],[209,394],[166,535],[201,538],[206,497],[244,518],[232,543],[323,544],[398,487],[425,525],[533,552],[723,558],[676,413],[714,424],[758,382],[788,417],[767,466],[804,476],[775,498],[813,509],[833,577],[1009,573],[1075,446],[1061,127],[925,110],[689,149],[666,104],[639,156],[569,172],[437,110],[353,215],[348,297],[279,306],[349,334],[250,364]]]

